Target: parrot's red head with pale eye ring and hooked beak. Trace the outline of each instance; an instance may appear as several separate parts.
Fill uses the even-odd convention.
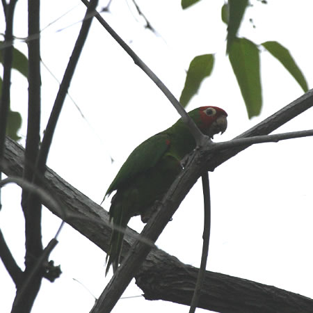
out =
[[[227,113],[217,106],[201,106],[198,109],[198,118],[195,124],[198,125],[204,135],[213,138],[215,134],[221,133],[227,128]],[[191,111],[191,112],[193,112]]]

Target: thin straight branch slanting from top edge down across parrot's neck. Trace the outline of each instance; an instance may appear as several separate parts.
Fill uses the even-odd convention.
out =
[[[83,2],[83,4],[85,4],[85,6],[89,7],[89,3],[87,0],[81,1]],[[159,87],[162,93],[166,95],[166,97],[168,98],[168,100],[170,100],[170,103],[175,107],[179,115],[182,116],[182,120],[184,120],[184,122],[186,122],[186,124],[190,128],[191,133],[195,137],[197,145],[200,145],[202,143],[204,135],[195,125],[195,122],[193,122],[190,116],[186,113],[182,105],[177,101],[174,95],[172,95],[170,90],[162,83],[159,77],[157,77],[157,75],[154,74],[154,72],[152,72],[152,70],[150,70],[149,67],[147,67],[147,65],[141,60],[141,58],[139,58],[139,56],[135,54],[135,52],[126,44],[126,42],[122,40],[122,38],[120,38],[120,36],[117,33],[115,33],[111,26],[108,23],[106,23],[104,18],[101,15],[99,15],[99,13],[97,13],[96,10],[93,10],[93,14],[95,15],[95,18],[100,22],[100,24],[104,26],[104,29],[108,31],[108,33],[114,38],[116,42],[118,42],[122,49],[124,49],[127,52],[127,54],[133,59],[134,63],[138,65],[138,67],[140,67],[141,70],[143,70],[143,72],[145,72],[145,74],[147,74],[147,76],[150,79],[152,79],[152,81]]]

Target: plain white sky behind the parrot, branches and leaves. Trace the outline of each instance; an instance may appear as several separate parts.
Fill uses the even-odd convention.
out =
[[[131,1],[128,0],[128,3]],[[159,36],[143,28],[141,18],[127,1],[113,1],[111,14],[103,15],[124,40],[179,97],[185,70],[199,54],[215,53],[213,75],[193,97],[188,111],[212,104],[229,114],[229,127],[216,141],[226,141],[264,120],[303,94],[284,67],[262,52],[264,107],[248,120],[243,99],[225,56],[226,26],[220,21],[223,1],[200,1],[182,11],[180,1],[137,1]],[[105,6],[100,1],[99,7]],[[74,8],[76,7],[76,8]],[[42,1],[42,28],[68,15],[42,32],[42,60],[61,80],[85,8],[79,0]],[[26,1],[17,3],[15,35],[27,34]],[[136,21],[136,18],[140,22]],[[248,19],[252,17],[256,29]],[[312,4],[302,0],[268,0],[246,13],[240,35],[261,43],[277,40],[291,51],[310,86],[313,79]],[[72,25],[72,26],[71,26]],[[58,31],[62,29],[62,31]],[[1,32],[3,20],[1,19]],[[26,53],[26,44],[16,43]],[[58,83],[42,66],[42,130],[54,103]],[[179,116],[154,83],[95,20],[70,87],[70,95],[83,111],[81,118],[67,98],[58,122],[48,166],[101,202],[106,188],[129,153],[143,140],[172,125]],[[20,135],[26,136],[27,84],[13,73],[11,106],[24,116]],[[312,109],[281,127],[278,132],[312,129]],[[90,126],[91,125],[91,126]],[[312,138],[262,144],[227,161],[210,174],[212,228],[207,269],[274,285],[313,298]],[[110,156],[115,159],[111,164]],[[3,189],[1,230],[20,266],[24,266],[24,219],[19,188]],[[109,209],[109,201],[104,202]],[[60,220],[43,210],[44,246],[54,236]],[[140,231],[139,218],[131,227]],[[186,231],[187,230],[187,231]],[[196,184],[161,234],[157,246],[182,262],[199,266],[202,248],[202,190]],[[105,253],[71,227],[63,229],[51,259],[63,274],[54,284],[42,283],[33,312],[89,312],[95,296],[104,289]],[[0,311],[9,312],[15,286],[0,265]],[[79,280],[81,284],[73,280]],[[142,291],[131,283],[125,296]],[[186,312],[188,307],[143,297],[122,299],[113,312]],[[197,312],[202,310],[197,310]]]

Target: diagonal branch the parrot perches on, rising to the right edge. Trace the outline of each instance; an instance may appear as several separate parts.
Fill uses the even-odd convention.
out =
[[[278,111],[270,118],[259,123],[252,129],[246,131],[244,134],[239,136],[248,137],[257,135],[268,134],[270,131],[278,128],[284,122],[291,119],[291,112],[298,114],[313,106],[312,102],[313,92],[310,90],[308,93],[297,99],[295,102],[289,104],[289,106]],[[289,112],[289,113],[287,113]],[[204,169],[213,170],[218,164],[223,163],[223,160],[227,160],[232,155],[246,149],[248,146],[241,146],[232,150],[225,150],[217,153],[211,153],[210,144],[200,147],[198,151],[194,151],[189,157],[188,164],[184,170],[179,174],[175,182],[172,184],[162,202],[157,204],[157,214],[150,218],[145,225],[143,232],[141,233],[145,238],[152,241],[156,241],[161,234],[164,227],[172,218],[179,204],[184,199],[185,195],[189,192],[191,187],[195,184],[198,177],[202,174]],[[217,163],[217,164],[216,164]],[[216,166],[215,166],[216,164]],[[122,296],[131,279],[136,275],[136,272],[141,266],[141,263],[147,257],[151,248],[146,246],[144,243],[136,241],[131,247],[131,250],[125,257],[125,261],[122,262],[118,270],[113,275],[113,278],[107,284],[106,288],[99,297],[92,312],[111,312],[114,305]]]

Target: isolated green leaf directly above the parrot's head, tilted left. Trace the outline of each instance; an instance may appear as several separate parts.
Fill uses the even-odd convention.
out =
[[[202,56],[195,56],[189,65],[186,76],[185,86],[182,90],[179,102],[182,106],[186,106],[191,97],[198,93],[200,85],[205,77],[208,77],[213,69],[214,55],[203,54]]]

